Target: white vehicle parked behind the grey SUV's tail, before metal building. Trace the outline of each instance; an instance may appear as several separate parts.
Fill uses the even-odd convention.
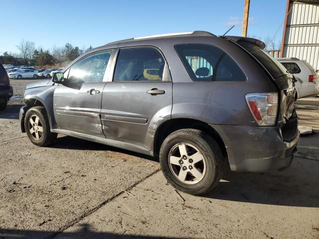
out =
[[[285,68],[296,78],[297,98],[319,95],[319,75],[305,60],[298,58],[278,58]]]

